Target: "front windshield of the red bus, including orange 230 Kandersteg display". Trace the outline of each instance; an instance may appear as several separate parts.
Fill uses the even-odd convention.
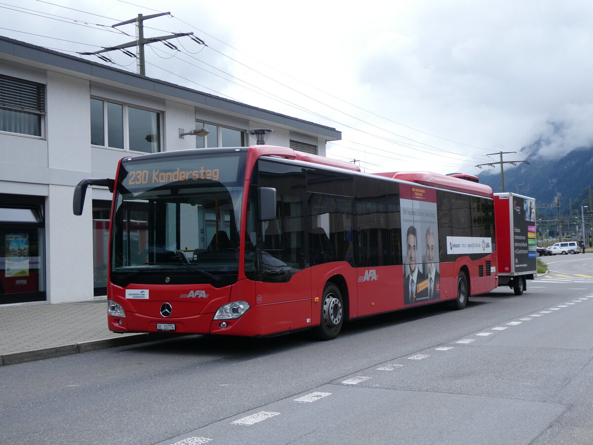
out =
[[[111,281],[157,282],[162,274],[174,282],[235,281],[244,171],[241,152],[123,160]]]

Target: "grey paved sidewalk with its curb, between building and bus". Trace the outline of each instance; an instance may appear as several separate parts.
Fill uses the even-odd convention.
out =
[[[0,306],[0,365],[152,341],[107,329],[107,300]]]

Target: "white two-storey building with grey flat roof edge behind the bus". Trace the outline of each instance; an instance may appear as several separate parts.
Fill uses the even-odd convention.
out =
[[[207,136],[184,136],[206,126]],[[340,139],[317,125],[0,37],[0,304],[105,294],[111,194],[74,186],[114,177],[126,155],[267,143],[326,154]],[[92,204],[91,204],[92,201]]]

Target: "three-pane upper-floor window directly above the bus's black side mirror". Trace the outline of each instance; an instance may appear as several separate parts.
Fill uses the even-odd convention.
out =
[[[161,115],[91,97],[91,144],[126,151],[161,151]]]

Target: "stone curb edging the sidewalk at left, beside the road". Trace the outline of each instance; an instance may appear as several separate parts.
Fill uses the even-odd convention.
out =
[[[63,355],[79,354],[80,352],[98,351],[99,349],[115,348],[165,338],[173,338],[173,336],[159,333],[138,333],[120,338],[106,338],[43,349],[32,349],[30,351],[9,352],[8,354],[0,355],[0,366],[44,360],[45,358],[62,357]]]

